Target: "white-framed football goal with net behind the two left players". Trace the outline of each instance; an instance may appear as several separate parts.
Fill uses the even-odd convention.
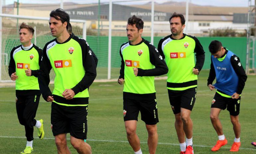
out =
[[[19,19],[19,20],[17,20]],[[22,22],[35,28],[32,43],[44,48],[44,45],[54,39],[49,29],[49,18],[0,14],[0,82],[12,82],[8,74],[10,52],[20,45],[19,26]],[[17,23],[18,22],[18,23]],[[86,20],[70,19],[72,32],[86,40]],[[50,73],[53,80],[54,73]]]

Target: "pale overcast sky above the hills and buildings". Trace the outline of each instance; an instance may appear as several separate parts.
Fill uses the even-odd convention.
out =
[[[2,0],[2,2],[8,4],[13,4],[17,0]],[[60,3],[61,0],[19,0],[20,3]],[[64,2],[74,2],[74,3],[97,3],[98,0],[63,0]],[[121,0],[112,0],[112,2],[121,1]],[[143,4],[150,1],[144,0],[124,0],[126,4]],[[130,1],[130,2],[129,2]],[[176,2],[186,2],[186,0],[155,0],[155,2],[167,2],[167,1],[176,1]],[[254,1],[254,0],[252,0]],[[100,2],[109,2],[109,0],[100,0]],[[190,0],[190,2],[197,5],[212,5],[212,6],[224,6],[224,7],[248,7],[248,0]]]

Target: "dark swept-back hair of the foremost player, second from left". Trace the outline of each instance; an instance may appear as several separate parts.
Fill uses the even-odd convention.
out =
[[[55,9],[50,13],[50,17],[55,18],[56,20],[61,20],[62,23],[67,22],[66,28],[69,25],[69,15],[63,9]]]

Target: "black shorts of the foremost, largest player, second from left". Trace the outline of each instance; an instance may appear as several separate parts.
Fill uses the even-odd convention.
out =
[[[87,137],[88,106],[64,106],[52,102],[51,124],[53,135],[70,133],[78,139]]]

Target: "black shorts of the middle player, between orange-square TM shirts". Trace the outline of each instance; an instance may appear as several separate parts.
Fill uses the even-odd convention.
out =
[[[152,100],[134,100],[124,98],[123,116],[124,121],[137,120],[139,111],[141,120],[147,125],[155,125],[159,122],[157,113],[157,101]]]

